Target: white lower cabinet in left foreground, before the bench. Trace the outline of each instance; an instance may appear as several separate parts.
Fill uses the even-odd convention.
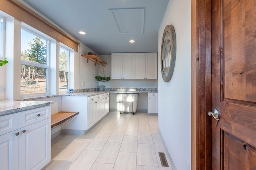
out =
[[[40,117],[40,113],[46,114]],[[50,162],[50,115],[51,108],[46,106],[0,116],[1,170],[40,170]],[[1,130],[15,126],[12,121],[6,124],[6,117],[13,119],[14,122],[18,118],[19,124],[30,120],[30,125],[19,126],[19,129],[3,134]]]

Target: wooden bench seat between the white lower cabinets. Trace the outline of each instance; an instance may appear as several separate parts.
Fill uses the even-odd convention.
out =
[[[70,112],[70,111],[61,111],[61,112],[52,114],[51,128],[53,128],[57,125],[60,125],[64,121],[67,121],[68,119],[71,119],[72,117],[75,117],[78,114],[79,114],[79,112]]]

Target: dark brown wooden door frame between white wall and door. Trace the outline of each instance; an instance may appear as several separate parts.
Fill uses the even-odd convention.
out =
[[[211,103],[211,0],[191,0],[191,170],[212,168]]]

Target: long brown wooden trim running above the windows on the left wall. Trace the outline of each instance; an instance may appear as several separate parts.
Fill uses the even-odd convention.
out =
[[[0,10],[78,51],[78,45],[80,43],[76,39],[17,0],[0,0]]]

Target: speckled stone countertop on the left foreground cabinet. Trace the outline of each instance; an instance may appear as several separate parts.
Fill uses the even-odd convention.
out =
[[[53,104],[45,101],[0,100],[0,116]]]

